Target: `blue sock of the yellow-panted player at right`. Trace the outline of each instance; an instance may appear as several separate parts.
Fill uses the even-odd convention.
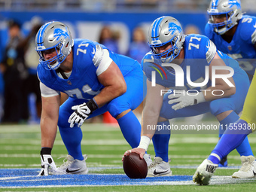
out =
[[[245,120],[237,120],[237,126],[244,126],[247,125]],[[230,151],[237,148],[242,142],[245,140],[245,137],[251,133],[251,130],[234,130],[234,129],[227,129],[224,132],[224,135],[221,136],[221,139],[218,141],[218,144],[215,146],[212,154],[208,157],[208,160],[211,160],[212,163],[218,164],[220,163],[221,159],[225,157]]]

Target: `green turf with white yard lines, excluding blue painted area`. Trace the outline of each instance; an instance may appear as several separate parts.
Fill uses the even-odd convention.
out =
[[[182,122],[178,122],[182,123]],[[211,122],[204,122],[209,124]],[[130,146],[123,139],[117,126],[85,123],[82,126],[84,139],[82,150],[88,155],[87,166],[90,173],[124,174],[121,158]],[[182,134],[181,134],[182,133]],[[186,134],[187,133],[187,134]],[[189,134],[188,134],[189,133]],[[210,154],[218,142],[217,132],[211,134],[189,131],[173,132],[169,142],[169,158],[171,158],[172,175],[193,175],[197,166]],[[251,148],[255,153],[256,135],[249,137]],[[39,168],[40,165],[41,134],[39,125],[0,125],[0,169],[7,168]],[[153,145],[148,153],[154,157]],[[62,164],[67,151],[57,133],[52,151],[56,166]],[[58,159],[59,158],[59,159]],[[229,166],[239,166],[239,155],[233,151],[228,156]],[[95,168],[104,169],[95,169]],[[232,175],[233,169],[217,169],[215,175]],[[105,186],[105,187],[65,187],[63,188],[19,188],[18,191],[244,191],[254,190],[256,179],[237,184],[211,184],[209,186],[194,185],[153,185],[153,186]],[[0,186],[1,187],[1,186]],[[17,189],[0,188],[0,191]]]

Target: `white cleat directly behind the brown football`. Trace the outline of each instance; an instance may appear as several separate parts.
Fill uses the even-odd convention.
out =
[[[154,162],[148,166],[147,177],[172,176],[169,162],[163,161],[161,157],[154,157]]]

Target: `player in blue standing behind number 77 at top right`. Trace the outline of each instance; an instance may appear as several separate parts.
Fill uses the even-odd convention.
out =
[[[206,35],[218,50],[239,62],[251,81],[256,67],[256,17],[243,15],[239,0],[212,0],[207,13]],[[223,132],[220,130],[220,137]],[[248,142],[236,148],[241,158],[246,148],[250,148]],[[227,157],[221,160],[219,166],[227,166]],[[236,172],[233,176],[239,178],[239,175],[240,172]]]

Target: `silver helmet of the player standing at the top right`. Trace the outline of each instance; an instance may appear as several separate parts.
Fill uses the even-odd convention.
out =
[[[207,13],[209,24],[214,27],[215,32],[223,35],[242,18],[241,3],[239,0],[212,0]],[[214,17],[226,17],[226,20],[215,23]]]

